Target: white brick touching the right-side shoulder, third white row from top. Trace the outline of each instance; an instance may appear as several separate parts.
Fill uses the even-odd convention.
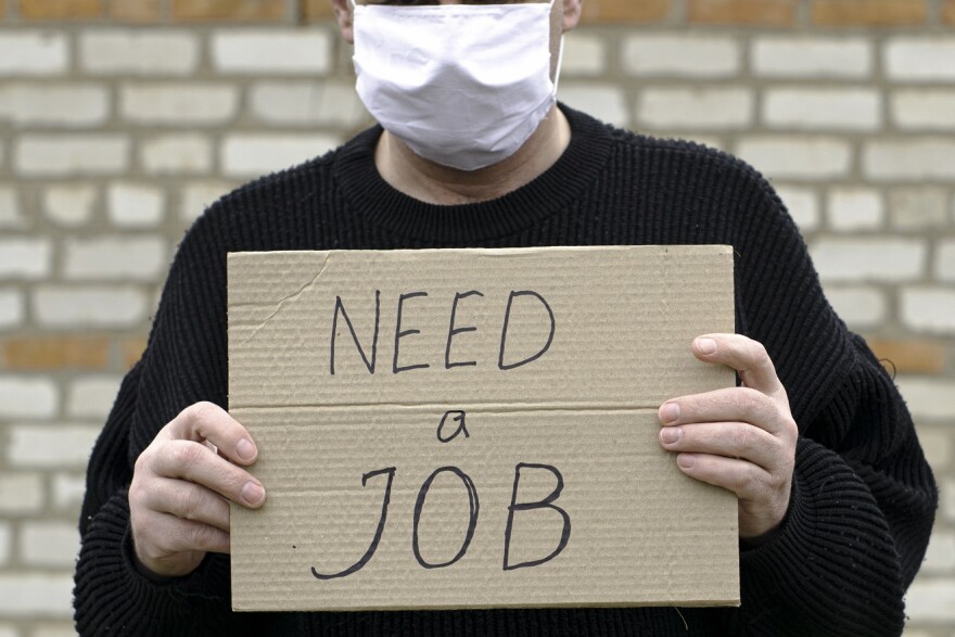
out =
[[[836,179],[852,169],[852,146],[833,138],[750,138],[738,143],[736,154],[771,178]]]

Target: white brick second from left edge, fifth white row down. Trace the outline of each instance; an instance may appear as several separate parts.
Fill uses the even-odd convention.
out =
[[[162,237],[100,237],[63,243],[63,275],[69,280],[155,281],[168,266]]]

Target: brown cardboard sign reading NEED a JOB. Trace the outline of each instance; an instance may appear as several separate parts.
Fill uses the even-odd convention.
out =
[[[229,255],[235,610],[738,604],[737,506],[658,443],[730,386],[728,246]]]

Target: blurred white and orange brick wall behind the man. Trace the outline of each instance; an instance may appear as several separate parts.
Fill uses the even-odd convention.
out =
[[[955,0],[586,0],[561,98],[737,153],[890,359],[942,488],[908,636],[955,632]],[[72,635],[84,468],[173,251],[368,120],[327,0],[0,0],[0,637]]]

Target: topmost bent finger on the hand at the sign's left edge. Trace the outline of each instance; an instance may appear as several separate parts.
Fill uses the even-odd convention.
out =
[[[166,425],[166,439],[208,442],[233,462],[251,464],[258,455],[255,442],[242,424],[213,403],[196,403]]]

